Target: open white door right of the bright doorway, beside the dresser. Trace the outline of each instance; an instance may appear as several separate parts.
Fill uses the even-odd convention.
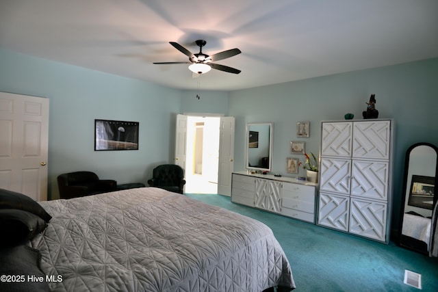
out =
[[[218,194],[231,196],[234,170],[234,117],[220,118]]]

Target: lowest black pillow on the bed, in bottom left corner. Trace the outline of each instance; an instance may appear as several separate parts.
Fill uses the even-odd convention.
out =
[[[0,275],[14,277],[14,282],[1,281],[0,291],[40,292],[49,291],[49,284],[40,268],[39,250],[26,245],[0,249]],[[28,281],[27,277],[43,277],[43,281]],[[8,279],[5,279],[8,280]]]

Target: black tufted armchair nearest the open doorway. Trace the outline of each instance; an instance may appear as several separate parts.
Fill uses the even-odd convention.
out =
[[[183,187],[185,185],[184,170],[179,165],[158,165],[153,169],[152,176],[153,178],[148,181],[149,186],[183,194]]]

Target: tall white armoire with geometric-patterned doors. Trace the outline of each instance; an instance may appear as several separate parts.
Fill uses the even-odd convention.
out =
[[[318,225],[389,241],[392,120],[321,123]]]

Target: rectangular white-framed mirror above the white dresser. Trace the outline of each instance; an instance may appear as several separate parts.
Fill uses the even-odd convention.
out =
[[[272,123],[246,125],[246,168],[270,171]]]

